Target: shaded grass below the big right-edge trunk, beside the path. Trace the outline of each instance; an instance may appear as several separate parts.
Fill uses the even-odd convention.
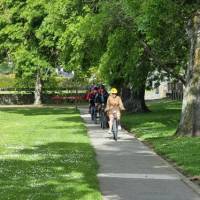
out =
[[[184,168],[185,174],[200,174],[200,138],[165,136],[156,139],[149,138],[155,150],[162,156],[167,155],[170,161],[176,161],[179,169]]]

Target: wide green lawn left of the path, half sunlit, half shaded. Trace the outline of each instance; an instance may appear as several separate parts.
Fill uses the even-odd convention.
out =
[[[0,108],[0,199],[101,200],[95,153],[70,108]]]

